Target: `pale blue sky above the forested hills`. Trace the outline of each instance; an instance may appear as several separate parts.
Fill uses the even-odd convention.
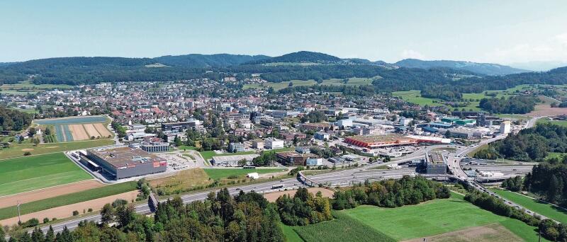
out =
[[[0,62],[268,54],[567,62],[567,1],[0,1]]]

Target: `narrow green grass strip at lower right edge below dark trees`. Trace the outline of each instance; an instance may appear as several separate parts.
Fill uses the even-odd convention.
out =
[[[531,197],[526,197],[515,192],[500,189],[493,189],[493,191],[512,202],[522,205],[522,207],[525,207],[526,209],[532,210],[556,221],[560,221],[561,223],[567,223],[567,210],[555,207],[546,202],[539,202]]]

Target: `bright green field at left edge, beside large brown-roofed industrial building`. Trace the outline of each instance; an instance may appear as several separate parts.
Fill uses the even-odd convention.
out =
[[[91,175],[62,153],[0,161],[0,196],[89,179]]]

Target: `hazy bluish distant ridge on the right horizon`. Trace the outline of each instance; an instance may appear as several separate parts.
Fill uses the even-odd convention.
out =
[[[484,74],[490,76],[529,72],[528,70],[508,67],[501,64],[461,62],[461,61],[451,61],[451,60],[425,61],[421,59],[403,59],[400,60],[399,62],[395,62],[395,65],[397,65],[398,67],[420,68],[420,69],[430,69],[434,67],[448,67],[451,69],[463,69],[467,71],[472,71],[477,74]]]

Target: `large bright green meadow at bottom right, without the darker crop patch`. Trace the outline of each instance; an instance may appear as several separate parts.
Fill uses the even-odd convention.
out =
[[[521,221],[515,223],[509,221],[513,219],[480,209],[456,194],[445,200],[432,200],[393,209],[360,206],[345,212],[350,217],[396,240],[422,238],[494,223],[503,223],[507,228],[512,227],[510,231],[527,241],[537,236],[534,232],[535,227]],[[517,231],[523,232],[517,233]]]

